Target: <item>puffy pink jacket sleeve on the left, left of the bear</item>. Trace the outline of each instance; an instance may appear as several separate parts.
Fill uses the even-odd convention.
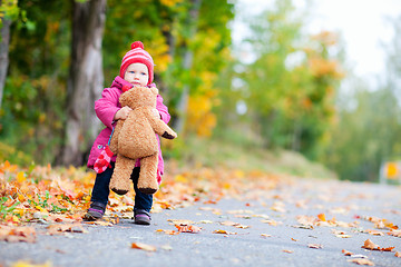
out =
[[[95,112],[100,121],[108,128],[113,128],[114,116],[120,109],[117,89],[105,88],[101,98],[95,101]]]

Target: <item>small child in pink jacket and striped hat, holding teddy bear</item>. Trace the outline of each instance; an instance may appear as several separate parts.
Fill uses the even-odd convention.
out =
[[[129,87],[156,87],[151,83],[154,79],[154,61],[150,55],[144,50],[144,44],[140,41],[136,41],[131,44],[129,50],[123,58],[119,76],[115,78],[110,88],[105,88],[101,92],[101,98],[95,102],[95,111],[97,117],[106,126],[96,138],[94,146],[90,150],[88,167],[94,168],[95,161],[104,150],[110,138],[113,127],[119,119],[126,119],[129,111],[129,107],[123,107],[119,105],[119,96],[124,86]],[[168,123],[170,116],[167,107],[163,103],[160,95],[157,96],[155,116],[160,118],[164,122]],[[158,138],[158,136],[157,136]],[[159,140],[159,139],[158,139]],[[96,176],[90,208],[85,215],[85,220],[96,220],[104,216],[109,196],[109,184],[111,175],[115,168],[116,156],[111,158],[110,166],[101,174]],[[135,165],[131,174],[131,180],[135,189],[135,206],[134,206],[134,220],[138,225],[150,225],[150,209],[153,205],[153,195],[146,195],[138,190],[138,177],[140,170],[140,161]],[[160,184],[162,175],[164,172],[164,161],[160,150],[158,154],[158,170],[157,181]]]

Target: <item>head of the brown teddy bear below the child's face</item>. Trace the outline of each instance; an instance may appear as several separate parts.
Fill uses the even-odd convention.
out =
[[[155,87],[133,87],[121,93],[119,102],[121,107],[128,106],[131,109],[138,107],[156,108],[158,90]]]

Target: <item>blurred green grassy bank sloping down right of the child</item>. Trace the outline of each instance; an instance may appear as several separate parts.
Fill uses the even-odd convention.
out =
[[[287,150],[270,151],[256,142],[227,139],[187,138],[182,149],[180,165],[227,167],[244,171],[260,170],[300,177],[332,179],[335,174],[312,162],[301,154]]]

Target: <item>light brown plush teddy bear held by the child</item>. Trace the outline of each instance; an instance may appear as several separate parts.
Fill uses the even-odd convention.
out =
[[[121,107],[128,106],[133,110],[127,119],[117,121],[110,140],[110,150],[117,159],[109,187],[118,195],[128,192],[135,162],[140,159],[138,189],[144,194],[155,194],[158,190],[158,141],[155,132],[166,139],[174,139],[177,134],[153,112],[157,88],[133,87],[123,88],[123,91],[119,97]]]

